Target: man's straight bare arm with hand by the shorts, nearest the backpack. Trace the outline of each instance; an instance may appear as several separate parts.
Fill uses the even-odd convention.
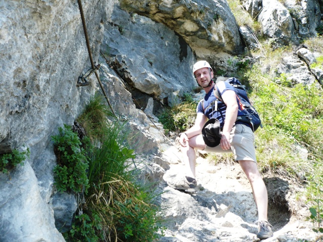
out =
[[[222,99],[227,106],[226,120],[224,123],[222,137],[220,141],[221,148],[224,150],[230,149],[230,132],[238,115],[238,103],[236,93],[232,90],[227,90],[222,94]]]

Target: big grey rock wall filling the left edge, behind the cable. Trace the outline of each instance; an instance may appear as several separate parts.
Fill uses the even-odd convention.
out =
[[[82,1],[93,58],[114,0]],[[48,201],[56,164],[50,136],[75,117],[95,92],[76,87],[90,67],[76,1],[0,4],[0,154],[29,147],[30,160],[1,175],[1,241],[64,241]]]

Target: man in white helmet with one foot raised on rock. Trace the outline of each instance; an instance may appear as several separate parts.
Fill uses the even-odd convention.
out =
[[[207,152],[233,152],[246,174],[252,188],[253,197],[258,209],[258,233],[260,239],[273,236],[270,224],[267,222],[267,190],[257,167],[253,146],[254,134],[248,124],[236,122],[238,102],[234,88],[226,83],[213,83],[213,70],[206,61],[199,61],[193,66],[193,75],[197,83],[205,90],[203,101],[197,106],[195,124],[185,133],[180,134],[180,144],[186,166],[186,176],[169,186],[178,190],[191,190],[197,185],[195,179],[195,149]],[[217,86],[223,102],[214,96],[214,86]],[[209,147],[205,144],[202,129],[207,119],[217,118],[220,122],[222,136],[220,144]],[[220,139],[220,138],[219,138]]]

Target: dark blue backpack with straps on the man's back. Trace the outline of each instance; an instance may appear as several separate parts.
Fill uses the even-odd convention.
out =
[[[256,109],[250,104],[245,86],[242,85],[241,82],[234,77],[227,79],[225,82],[229,83],[231,86],[234,87],[237,98],[239,100],[239,111],[236,122],[239,121],[242,123],[249,124],[253,132],[255,132],[259,127],[262,128],[259,114],[256,111]],[[223,99],[218,91],[217,86],[214,86],[213,92],[214,96],[216,96],[218,100],[223,102]]]

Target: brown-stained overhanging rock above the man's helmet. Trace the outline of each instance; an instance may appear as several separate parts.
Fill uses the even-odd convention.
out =
[[[123,9],[165,24],[181,35],[197,58],[243,51],[236,20],[226,1],[130,1]]]

